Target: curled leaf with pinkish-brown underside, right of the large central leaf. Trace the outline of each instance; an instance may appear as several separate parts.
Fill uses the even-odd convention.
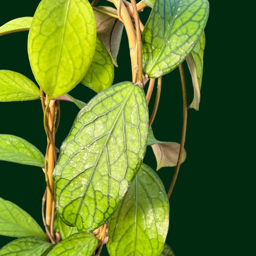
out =
[[[148,143],[151,146],[155,154],[158,171],[161,167],[173,167],[177,165],[178,155],[180,152],[180,144],[176,142],[161,142],[154,137],[153,130],[149,128]],[[181,163],[186,160],[186,150],[184,149]]]

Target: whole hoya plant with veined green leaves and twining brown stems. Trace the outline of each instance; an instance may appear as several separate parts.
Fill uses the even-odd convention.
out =
[[[46,182],[44,230],[27,212],[0,198],[0,235],[17,238],[0,255],[99,256],[103,246],[110,256],[174,255],[165,244],[169,198],[186,158],[187,110],[199,107],[209,3],[110,2],[42,0],[33,17],[1,24],[0,36],[29,31],[27,51],[37,84],[15,70],[0,70],[0,101],[40,100],[47,147],[42,154],[36,141],[0,134],[0,160],[38,166]],[[143,9],[151,9],[145,24]],[[118,60],[123,27],[130,58]],[[185,61],[194,90],[190,105]],[[126,63],[131,76],[113,84],[118,62]],[[166,86],[162,76],[176,68],[183,97],[181,141],[161,142],[151,126]],[[95,91],[89,102],[83,95],[69,95],[78,84]],[[57,145],[60,101],[76,104],[78,114]],[[155,103],[149,111],[150,101]],[[147,146],[153,149],[156,170],[143,162]],[[156,173],[166,166],[176,166],[167,191]]]

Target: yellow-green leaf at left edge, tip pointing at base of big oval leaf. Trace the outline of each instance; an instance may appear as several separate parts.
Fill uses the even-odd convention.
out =
[[[40,98],[40,90],[26,76],[10,70],[0,70],[0,101],[24,101]]]

